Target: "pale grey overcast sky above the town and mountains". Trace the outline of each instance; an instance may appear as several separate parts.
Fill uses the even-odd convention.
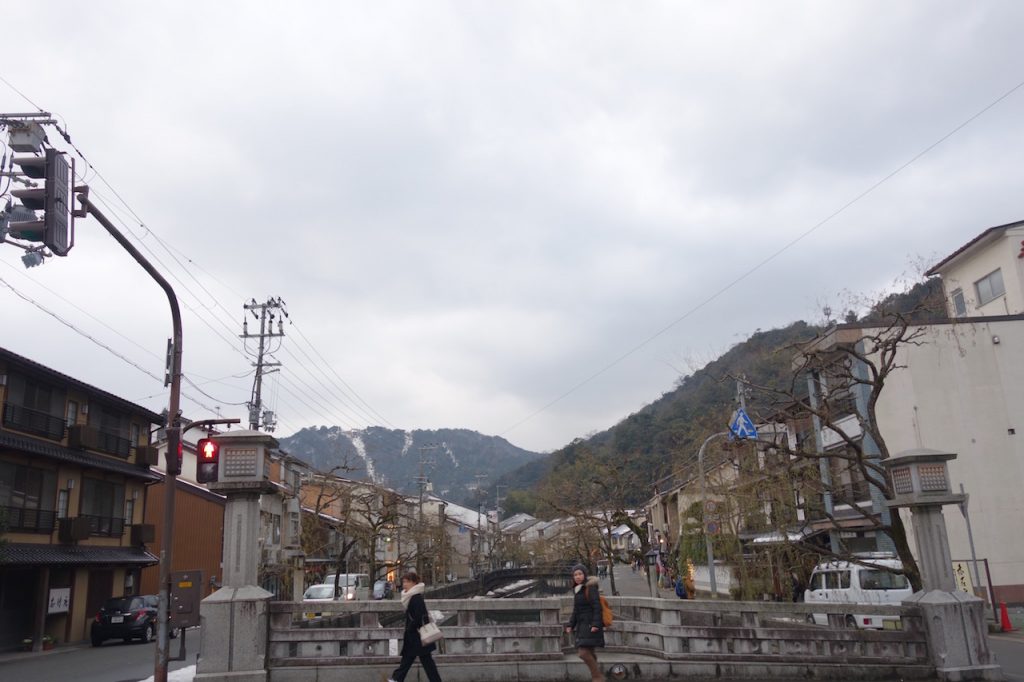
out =
[[[242,306],[280,296],[279,434],[554,450],[1024,218],[1021,88],[751,272],[1024,81],[1014,0],[68,0],[4,25],[0,75],[177,289],[193,419],[246,421]],[[162,377],[166,301],[99,224],[20,254],[0,278],[111,350],[2,286],[0,344],[166,407],[113,354]]]

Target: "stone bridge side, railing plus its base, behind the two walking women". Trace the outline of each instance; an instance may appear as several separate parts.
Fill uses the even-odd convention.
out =
[[[849,606],[842,605],[608,601],[615,623],[599,659],[609,680],[936,679],[927,605],[871,607],[872,613],[892,616],[899,629],[869,631],[849,628]],[[571,609],[568,597],[432,598],[428,606],[444,614],[444,640],[435,657],[445,682],[588,678],[562,628]],[[312,621],[304,620],[308,608],[269,604],[265,679],[381,682],[397,666],[402,632],[391,624],[399,603],[318,604],[318,610],[330,611]],[[829,625],[809,623],[812,612],[827,613]],[[419,666],[409,679],[424,679]]]

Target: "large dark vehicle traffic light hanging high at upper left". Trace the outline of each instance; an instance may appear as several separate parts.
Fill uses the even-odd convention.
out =
[[[57,256],[67,256],[75,246],[75,222],[71,210],[73,166],[65,155],[47,148],[43,156],[14,157],[22,174],[42,180],[43,186],[13,189],[20,200],[19,214],[11,214],[8,233],[14,239],[42,242]],[[42,211],[42,217],[36,214]]]

